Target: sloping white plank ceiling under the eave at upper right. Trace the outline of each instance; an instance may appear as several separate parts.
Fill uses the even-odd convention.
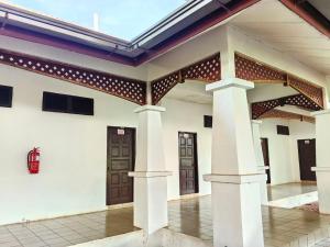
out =
[[[330,0],[321,0],[329,1]],[[330,75],[330,38],[277,0],[263,0],[231,20],[316,70]]]

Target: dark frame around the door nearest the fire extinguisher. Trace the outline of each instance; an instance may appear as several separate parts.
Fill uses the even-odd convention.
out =
[[[111,128],[123,128],[123,130],[131,130],[133,132],[132,134],[132,171],[135,170],[135,155],[136,155],[136,127],[125,127],[125,126],[107,126],[107,166],[106,166],[106,205],[107,206],[110,206],[110,205],[117,205],[117,204],[111,204],[111,203],[108,203],[108,151],[109,151],[109,131]],[[132,182],[132,202],[134,200],[134,181]],[[109,199],[109,202],[110,202],[110,199]],[[120,203],[119,203],[120,204]]]

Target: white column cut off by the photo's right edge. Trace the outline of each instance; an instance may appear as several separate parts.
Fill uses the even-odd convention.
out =
[[[312,113],[316,116],[316,156],[320,213],[330,214],[330,110]]]

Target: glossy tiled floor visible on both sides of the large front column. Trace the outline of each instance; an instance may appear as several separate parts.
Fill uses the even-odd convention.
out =
[[[210,197],[172,202],[169,206],[169,229],[211,240],[210,202]],[[321,235],[329,236],[330,216],[267,206],[263,207],[262,211],[266,246],[284,247],[296,242],[299,245],[293,246],[305,247],[307,243],[314,243]]]

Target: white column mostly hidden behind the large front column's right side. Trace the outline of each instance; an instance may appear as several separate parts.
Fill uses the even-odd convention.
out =
[[[253,145],[254,145],[257,171],[258,173],[266,175],[266,169],[270,169],[270,167],[266,167],[264,162],[264,155],[261,146],[261,134],[260,134],[261,124],[262,121],[252,120]],[[260,194],[261,194],[261,203],[263,205],[267,205],[268,204],[267,181],[260,182]]]

